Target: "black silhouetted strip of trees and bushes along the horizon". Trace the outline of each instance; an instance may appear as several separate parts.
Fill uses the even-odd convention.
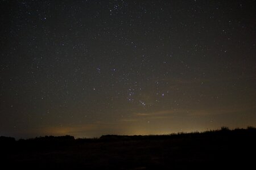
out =
[[[0,143],[80,143],[80,142],[111,142],[111,141],[133,141],[133,140],[152,140],[152,139],[175,139],[175,138],[196,138],[196,137],[217,137],[222,135],[228,135],[229,137],[236,135],[249,135],[256,133],[256,128],[253,126],[248,126],[247,129],[233,129],[230,130],[228,127],[223,126],[220,130],[210,130],[210,131],[193,131],[191,133],[171,133],[162,135],[102,135],[100,138],[77,138],[71,135],[65,136],[44,136],[36,137],[30,139],[19,139],[15,140],[13,137],[0,137]]]

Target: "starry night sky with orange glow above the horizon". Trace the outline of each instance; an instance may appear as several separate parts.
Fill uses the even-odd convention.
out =
[[[256,126],[255,1],[0,1],[0,135]]]

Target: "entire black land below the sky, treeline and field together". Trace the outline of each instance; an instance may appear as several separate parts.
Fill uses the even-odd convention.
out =
[[[0,137],[1,166],[33,169],[255,168],[256,129],[99,139]],[[250,169],[251,169],[250,168]]]

